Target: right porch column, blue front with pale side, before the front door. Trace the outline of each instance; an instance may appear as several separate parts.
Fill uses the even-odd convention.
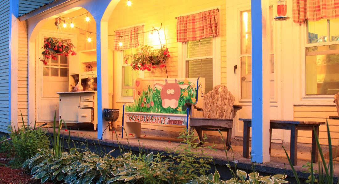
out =
[[[252,161],[270,161],[270,88],[268,0],[251,0],[252,14]],[[267,25],[267,26],[266,26]]]

